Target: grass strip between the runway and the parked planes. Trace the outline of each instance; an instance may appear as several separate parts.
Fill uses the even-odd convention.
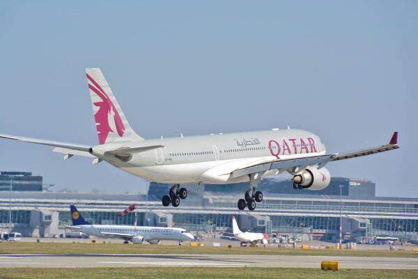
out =
[[[209,255],[327,255],[351,257],[418,257],[415,251],[334,250],[277,247],[192,247],[122,243],[3,242],[0,254],[209,254]]]

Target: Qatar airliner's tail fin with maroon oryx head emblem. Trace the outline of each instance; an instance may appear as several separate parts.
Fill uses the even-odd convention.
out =
[[[99,143],[144,140],[130,127],[100,68],[87,68],[86,76]]]

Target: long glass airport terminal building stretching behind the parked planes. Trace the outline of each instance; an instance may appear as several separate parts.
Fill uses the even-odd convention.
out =
[[[231,231],[231,217],[236,216],[242,230],[337,241],[341,217],[343,235],[349,241],[373,236],[418,240],[418,198],[376,197],[375,183],[365,179],[336,177],[324,190],[311,191],[295,190],[291,181],[266,177],[258,187],[264,193],[263,202],[255,211],[239,211],[236,204],[247,190],[247,183],[187,185],[187,199],[174,208],[161,203],[162,195],[167,195],[171,187],[167,184],[150,183],[148,195],[54,193],[26,188],[10,191],[6,176],[20,176],[22,181],[24,175],[3,172],[2,176],[0,231],[8,232],[10,227],[24,236],[65,234],[64,226],[71,224],[69,206],[75,204],[94,224],[133,225],[136,218],[138,225],[183,227],[214,237]],[[5,183],[9,187],[2,187]],[[131,204],[137,206],[136,213],[118,217]]]

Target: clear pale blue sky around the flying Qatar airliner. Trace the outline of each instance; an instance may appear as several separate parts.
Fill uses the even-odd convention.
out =
[[[0,1],[0,133],[97,144],[84,68],[146,139],[301,128],[380,196],[418,197],[417,1]],[[91,159],[0,141],[0,170],[56,190],[143,192]],[[287,177],[287,176],[284,176]]]

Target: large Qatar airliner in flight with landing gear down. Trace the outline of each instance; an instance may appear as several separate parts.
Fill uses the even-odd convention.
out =
[[[398,149],[398,133],[389,144],[347,153],[327,153],[318,135],[307,130],[279,129],[247,133],[201,135],[144,140],[137,135],[123,114],[100,68],[87,68],[86,77],[98,133],[98,145],[69,144],[37,140],[29,137],[0,137],[53,146],[53,151],[93,158],[92,165],[101,161],[148,181],[171,183],[169,195],[162,204],[177,207],[187,197],[180,184],[229,184],[249,181],[238,209],[254,211],[262,202],[257,191],[263,176],[293,175],[293,188],[322,190],[330,184],[330,172],[324,167],[336,160],[345,160],[373,153]]]

